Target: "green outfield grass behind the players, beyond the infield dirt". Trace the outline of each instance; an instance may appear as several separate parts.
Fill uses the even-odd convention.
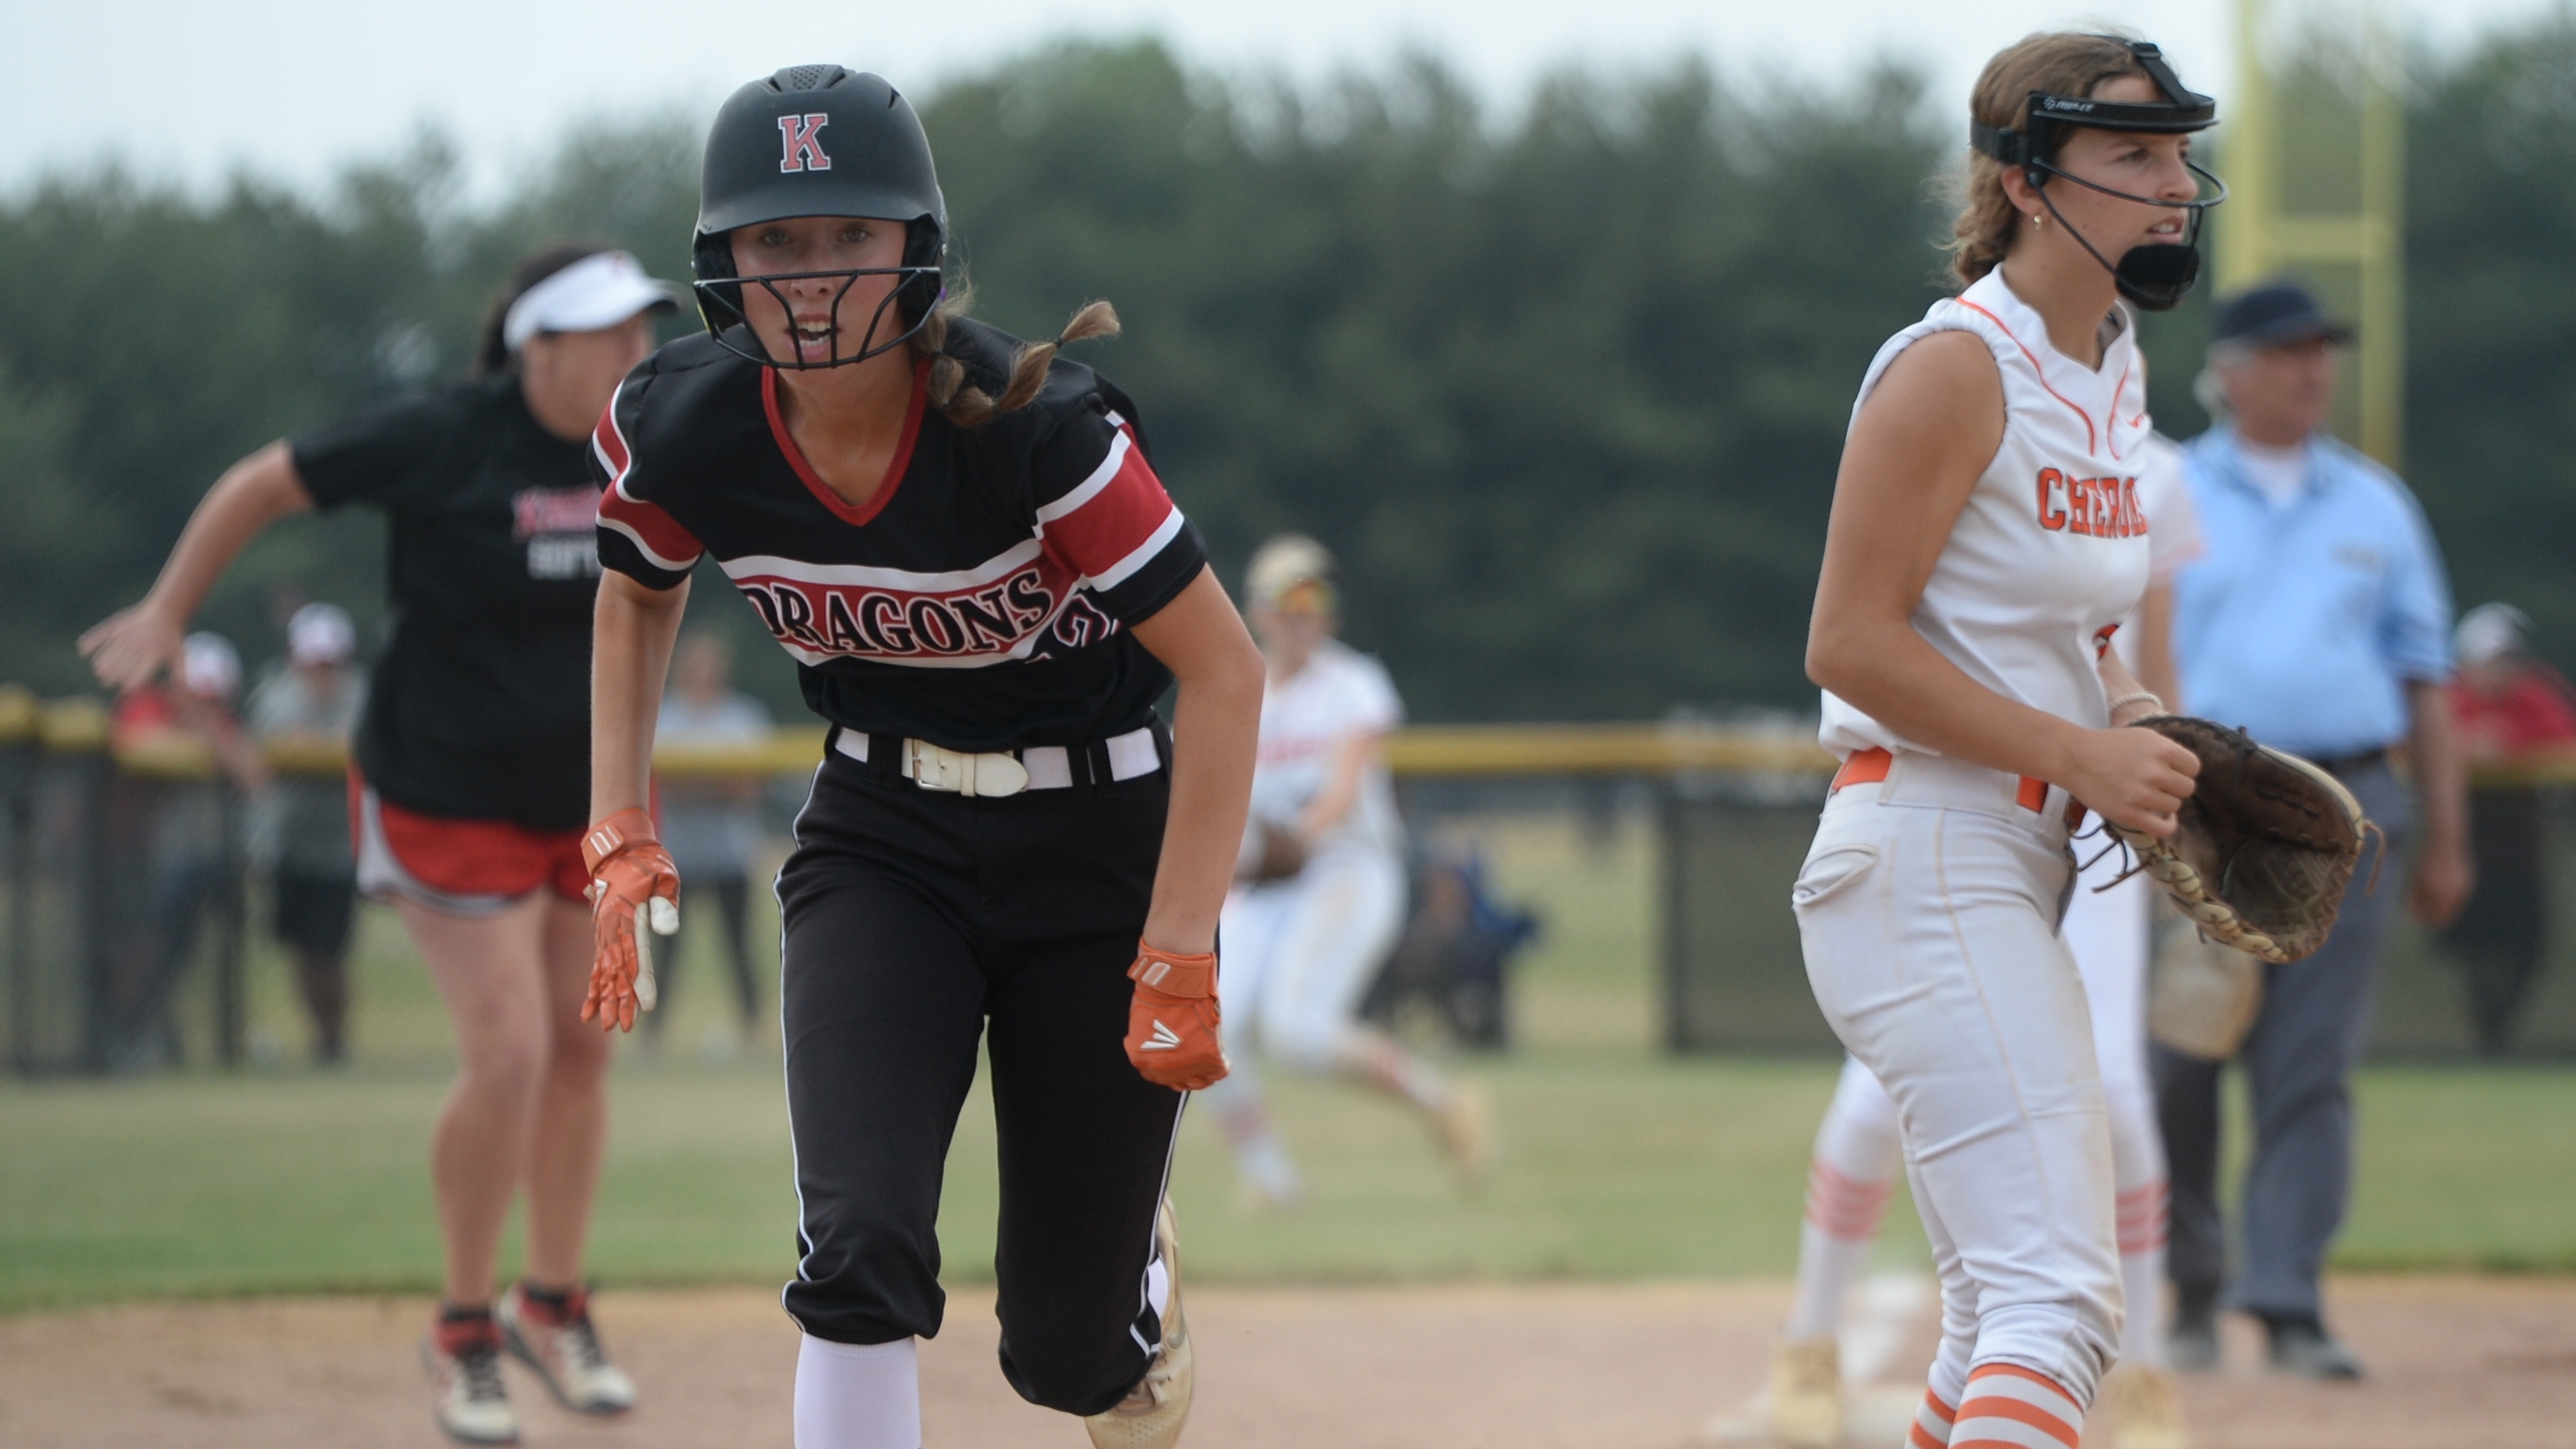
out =
[[[1461,1062],[1497,1096],[1504,1163],[1461,1194],[1419,1124],[1329,1083],[1278,1083],[1311,1201],[1252,1214],[1213,1127],[1185,1132],[1193,1271],[1234,1281],[1788,1274],[1806,1145],[1832,1091],[1816,1057],[1649,1049],[1643,833],[1481,833],[1551,936],[1517,990],[1525,1047]],[[773,1281],[793,1196],[775,1060],[706,1060],[716,980],[690,962],[670,1044],[629,1052],[600,1196],[608,1284]],[[252,1018],[270,1065],[0,1085],[0,1310],[116,1297],[430,1289],[428,1122],[446,1026],[399,931],[368,913],[358,1065],[289,1065],[276,962]],[[2576,1271],[2571,1070],[2378,1067],[2362,1078],[2349,1269]],[[2239,1132],[2241,1142],[2241,1132]],[[948,1274],[992,1261],[992,1122],[969,1101],[948,1176]],[[1880,1253],[1922,1258],[1904,1204]]]

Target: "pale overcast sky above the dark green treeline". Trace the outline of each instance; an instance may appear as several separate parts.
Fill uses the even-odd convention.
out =
[[[2383,0],[2458,44],[2571,0]],[[2357,15],[2360,0],[2272,10]],[[1886,54],[1965,98],[1996,46],[2045,26],[2117,23],[2164,44],[2226,101],[2233,0],[0,0],[0,191],[113,157],[209,183],[250,168],[314,183],[425,121],[464,142],[477,191],[551,150],[567,119],[680,103],[837,59],[907,90],[1051,36],[1159,34],[1190,62],[1296,77],[1422,46],[1510,108],[1564,62],[1656,67],[1698,49],[1731,75],[1844,75]]]

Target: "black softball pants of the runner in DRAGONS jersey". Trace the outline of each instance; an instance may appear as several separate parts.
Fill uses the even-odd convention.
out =
[[[1162,1346],[1146,1274],[1182,1093],[1121,1042],[1170,771],[984,799],[871,753],[827,750],[778,871],[788,1315],[837,1343],[940,1330],[940,1173],[989,1031],[1002,1377],[1100,1413]]]

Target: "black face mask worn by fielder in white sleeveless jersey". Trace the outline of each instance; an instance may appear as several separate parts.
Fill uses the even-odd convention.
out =
[[[2081,248],[2092,253],[2105,271],[2112,273],[2112,281],[2120,286],[2120,297],[2128,297],[2148,312],[2164,312],[2182,302],[2182,294],[2187,294],[2192,281],[2200,278],[2200,219],[2210,206],[2228,199],[2226,183],[2210,175],[2200,162],[2187,160],[2184,165],[2192,168],[2192,175],[2202,183],[2202,196],[2190,201],[2164,201],[2084,180],[2081,175],[2061,170],[2053,160],[2058,147],[2066,144],[2063,131],[2076,126],[2174,137],[2205,131],[2218,124],[2218,103],[2195,90],[2184,90],[2182,80],[2174,77],[2174,67],[2164,64],[2164,52],[2146,41],[2125,44],[2128,54],[2138,62],[2138,70],[2156,83],[2164,101],[2092,101],[2084,95],[2050,95],[2045,90],[2032,90],[2030,106],[2022,111],[2020,131],[1971,121],[1968,144],[2004,165],[2022,168],[2022,178],[2040,193],[2040,204],[2048,206],[2048,214],[2056,217],[2061,227],[2066,227],[2066,217],[2058,214],[2058,204],[2048,199],[2050,175],[2063,175],[2087,191],[2117,196],[2120,201],[2190,211],[2190,219],[2182,224],[2179,245],[2136,245],[2120,253],[2117,263],[2087,242],[2081,229],[2066,227],[2066,232],[2081,242]]]

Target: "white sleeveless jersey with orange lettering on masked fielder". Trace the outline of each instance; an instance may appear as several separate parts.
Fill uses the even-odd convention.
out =
[[[1976,683],[2076,724],[2107,724],[2094,660],[2146,593],[2146,364],[2136,322],[2115,312],[2102,369],[2048,345],[2040,315],[1991,271],[1888,338],[1860,402],[1896,353],[1932,333],[1976,333],[2004,374],[2004,441],[1978,474],[1932,565],[1914,632]],[[1860,402],[1852,405],[1857,418]],[[1824,694],[1816,735],[1837,755],[1924,750]]]

